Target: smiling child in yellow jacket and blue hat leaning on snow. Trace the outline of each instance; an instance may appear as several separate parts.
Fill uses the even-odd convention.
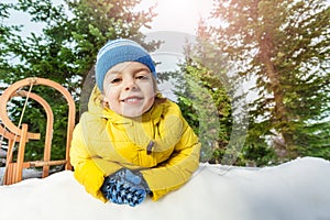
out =
[[[102,201],[135,206],[178,189],[198,168],[200,143],[178,106],[161,96],[150,54],[114,40],[98,53],[88,111],[76,125],[76,179]]]

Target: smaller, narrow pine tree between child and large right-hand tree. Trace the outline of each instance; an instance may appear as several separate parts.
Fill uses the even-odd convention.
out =
[[[201,142],[201,161],[220,163],[232,130],[233,88],[229,86],[227,59],[208,43],[205,28],[200,20],[196,41],[185,47],[176,95],[185,119]]]

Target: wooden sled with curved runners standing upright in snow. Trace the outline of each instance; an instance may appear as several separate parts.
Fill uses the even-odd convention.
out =
[[[51,148],[52,148],[52,135],[53,135],[53,123],[54,117],[50,105],[38,95],[31,92],[31,90],[20,90],[22,87],[44,85],[55,88],[59,91],[68,103],[68,122],[67,122],[67,136],[66,136],[66,156],[64,160],[51,161]],[[37,101],[45,110],[47,123],[46,123],[46,134],[44,144],[44,158],[43,161],[24,162],[25,144],[30,140],[40,140],[40,133],[29,132],[29,125],[23,123],[16,127],[8,117],[7,105],[9,100],[15,96],[31,98]],[[6,173],[3,176],[3,184],[11,185],[22,180],[23,168],[30,167],[43,167],[42,177],[50,175],[50,166],[65,165],[65,169],[72,169],[69,163],[69,147],[73,135],[73,130],[75,127],[75,114],[76,107],[75,101],[70,94],[59,84],[44,78],[26,78],[14,82],[8,87],[0,97],[0,119],[3,125],[0,124],[0,134],[8,140],[8,153],[6,162]],[[13,146],[15,143],[19,144],[16,162],[13,162]]]

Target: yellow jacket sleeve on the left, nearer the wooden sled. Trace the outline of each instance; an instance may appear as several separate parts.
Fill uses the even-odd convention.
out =
[[[100,191],[105,176],[114,173],[121,167],[118,164],[94,156],[88,151],[88,143],[82,133],[81,124],[78,123],[74,130],[70,147],[70,163],[75,168],[74,175],[87,193],[106,202],[107,199]]]

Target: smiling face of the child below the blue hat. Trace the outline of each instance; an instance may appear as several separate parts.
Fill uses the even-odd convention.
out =
[[[138,62],[120,63],[110,68],[103,88],[109,108],[129,118],[143,114],[155,100],[152,74],[147,66]]]

